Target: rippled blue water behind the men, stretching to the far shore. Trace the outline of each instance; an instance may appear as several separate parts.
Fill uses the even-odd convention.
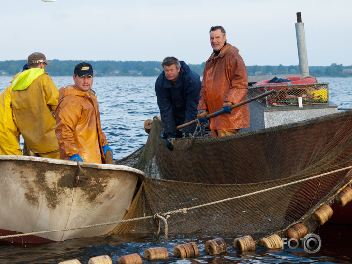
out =
[[[0,77],[0,92],[11,77]],[[73,84],[72,77],[52,77],[58,88]],[[148,134],[146,119],[160,116],[155,96],[156,77],[95,77],[92,89],[99,102],[102,130],[119,160],[143,146]],[[352,78],[319,78],[329,83],[330,100],[341,108],[352,108]]]

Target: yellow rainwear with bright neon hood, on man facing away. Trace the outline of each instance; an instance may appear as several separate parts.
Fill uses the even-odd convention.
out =
[[[59,144],[53,112],[58,104],[59,92],[54,82],[44,73],[44,69],[31,68],[17,77],[12,89],[15,121],[27,147],[34,153],[57,151]]]

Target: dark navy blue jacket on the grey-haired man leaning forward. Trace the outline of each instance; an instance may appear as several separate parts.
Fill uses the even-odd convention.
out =
[[[169,133],[176,132],[177,137],[181,137],[176,127],[197,119],[202,83],[199,75],[192,71],[184,61],[180,61],[180,64],[181,70],[175,85],[166,79],[164,71],[155,82],[155,93],[163,124],[161,137],[165,139]],[[193,124],[183,130],[194,133],[195,128],[196,124]]]

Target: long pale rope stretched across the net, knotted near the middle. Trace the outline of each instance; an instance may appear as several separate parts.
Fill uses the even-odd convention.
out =
[[[81,227],[75,227],[75,228],[57,229],[57,230],[50,230],[50,231],[39,231],[39,232],[23,233],[23,234],[15,234],[15,235],[5,235],[5,236],[0,236],[0,239],[27,236],[27,235],[35,235],[35,234],[52,233],[52,232],[60,232],[60,231],[70,231],[70,230],[92,228],[92,227],[99,227],[99,226],[107,226],[107,225],[120,224],[120,223],[126,223],[126,222],[131,222],[131,221],[145,220],[145,219],[150,219],[150,218],[156,219],[157,223],[159,221],[157,234],[159,234],[159,232],[160,232],[160,219],[162,219],[164,221],[164,223],[165,223],[165,239],[167,239],[167,235],[168,235],[167,218],[169,217],[169,215],[177,214],[177,213],[187,213],[187,211],[189,211],[189,210],[193,210],[193,209],[197,209],[197,208],[201,208],[201,207],[205,207],[205,206],[210,206],[210,205],[214,205],[214,204],[218,204],[218,203],[222,203],[222,202],[226,202],[226,201],[230,201],[230,200],[234,200],[234,199],[238,199],[238,198],[243,198],[243,197],[247,197],[247,196],[251,196],[251,195],[255,195],[255,194],[259,194],[259,193],[263,193],[263,192],[279,189],[279,188],[282,188],[282,187],[289,186],[291,184],[296,184],[296,183],[312,180],[312,179],[323,177],[323,176],[326,176],[326,175],[329,175],[329,174],[332,174],[332,173],[340,172],[340,171],[343,171],[343,170],[346,170],[346,169],[352,169],[352,166],[341,168],[341,169],[337,169],[337,170],[326,172],[326,173],[322,173],[322,174],[319,174],[319,175],[316,175],[316,176],[312,176],[312,177],[309,177],[309,178],[306,178],[306,179],[293,181],[293,182],[286,183],[286,184],[283,184],[283,185],[278,185],[278,186],[271,187],[271,188],[268,188],[268,189],[264,189],[264,190],[260,190],[260,191],[256,191],[256,192],[252,192],[252,193],[248,193],[248,194],[245,194],[245,195],[240,195],[240,196],[227,198],[227,199],[223,199],[223,200],[219,200],[219,201],[215,201],[215,202],[205,203],[205,204],[201,204],[201,205],[197,205],[197,206],[193,206],[193,207],[189,207],[189,208],[182,208],[182,209],[178,209],[178,210],[173,210],[173,211],[169,211],[169,212],[166,212],[166,213],[157,213],[157,214],[152,215],[152,216],[144,216],[144,217],[138,217],[138,218],[133,218],[133,219],[126,219],[126,220],[120,220],[120,221],[114,221],[114,222],[108,222],[108,223],[101,223],[101,224],[93,224],[93,225],[81,226]],[[165,215],[166,215],[166,218],[163,217]]]

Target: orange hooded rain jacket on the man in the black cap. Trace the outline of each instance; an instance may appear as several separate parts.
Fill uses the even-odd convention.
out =
[[[102,146],[108,145],[101,130],[99,106],[93,90],[81,91],[76,85],[59,89],[55,110],[56,136],[60,159],[79,154],[84,162],[105,163]]]

